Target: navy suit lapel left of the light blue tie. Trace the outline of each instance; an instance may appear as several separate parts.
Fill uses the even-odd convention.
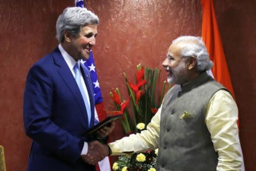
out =
[[[88,124],[87,124],[88,117],[86,115],[87,112],[86,112],[85,103],[83,101],[83,97],[78,88],[77,82],[75,82],[74,76],[69,69],[69,66],[67,66],[67,63],[65,62],[65,60],[64,60],[63,56],[61,55],[61,52],[59,51],[58,48],[53,52],[53,58],[54,58],[55,64],[57,64],[57,66],[59,66],[59,74],[61,75],[62,79],[66,83],[66,86],[69,87],[70,91],[73,93],[75,99],[77,100],[79,108],[81,109],[83,119],[86,122],[85,125],[86,125],[86,127],[88,127]]]

